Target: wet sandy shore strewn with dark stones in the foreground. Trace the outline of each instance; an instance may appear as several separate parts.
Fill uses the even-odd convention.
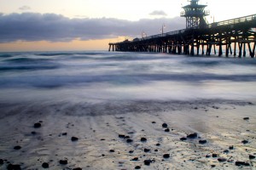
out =
[[[255,169],[255,104],[1,103],[0,169]]]

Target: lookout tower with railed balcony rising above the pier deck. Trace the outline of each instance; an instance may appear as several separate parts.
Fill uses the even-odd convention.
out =
[[[186,28],[202,28],[207,26],[207,19],[205,18],[210,14],[205,10],[207,5],[198,4],[199,0],[188,0],[189,5],[183,6],[181,16],[186,18]]]

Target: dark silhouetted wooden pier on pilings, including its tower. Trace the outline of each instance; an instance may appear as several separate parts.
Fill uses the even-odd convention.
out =
[[[189,0],[183,6],[181,16],[186,18],[186,29],[170,31],[149,37],[135,38],[132,41],[110,42],[108,51],[151,52],[188,55],[218,56],[234,55],[255,57],[256,14],[232,20],[208,24],[207,5],[199,0]],[[232,48],[233,47],[233,48]]]

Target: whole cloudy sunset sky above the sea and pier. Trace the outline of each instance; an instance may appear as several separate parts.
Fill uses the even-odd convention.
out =
[[[201,0],[209,23],[255,14],[255,0]],[[108,42],[185,28],[187,0],[0,0],[0,51],[108,50]]]

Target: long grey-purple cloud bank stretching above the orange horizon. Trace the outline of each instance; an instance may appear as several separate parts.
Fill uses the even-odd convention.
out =
[[[61,14],[2,14],[0,15],[0,42],[19,40],[68,42],[73,39],[140,37],[142,31],[149,36],[159,34],[163,23],[166,25],[166,31],[185,27],[185,21],[180,17],[131,21],[113,18],[70,19]]]

